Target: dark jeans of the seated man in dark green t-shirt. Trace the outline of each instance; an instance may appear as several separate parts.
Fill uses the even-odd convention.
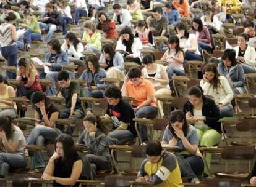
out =
[[[83,113],[82,109],[75,109],[74,116],[70,116],[70,108],[61,109],[61,111],[59,113],[59,118],[61,118],[61,119],[69,118],[71,121],[71,124],[75,124],[76,119],[83,119],[83,117],[85,117],[85,113]],[[67,127],[67,130],[65,133],[68,133],[69,135],[72,136],[74,129],[75,129],[75,127],[69,126],[69,127]],[[62,132],[63,131],[64,131],[64,129],[62,129]]]

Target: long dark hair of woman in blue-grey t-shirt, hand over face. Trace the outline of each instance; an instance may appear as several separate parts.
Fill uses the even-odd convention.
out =
[[[169,116],[169,131],[174,135],[174,137],[177,138],[176,133],[174,133],[173,126],[171,124],[174,124],[174,122],[183,122],[182,131],[184,133],[184,136],[187,136],[187,129],[189,128],[189,125],[187,124],[186,117],[184,113],[181,110],[174,110],[170,113]]]

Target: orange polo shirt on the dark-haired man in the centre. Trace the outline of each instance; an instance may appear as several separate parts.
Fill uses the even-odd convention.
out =
[[[126,90],[128,96],[134,98],[132,105],[139,106],[145,100],[147,100],[148,96],[153,96],[154,99],[150,103],[150,106],[156,107],[155,88],[151,81],[143,79],[141,84],[139,84],[138,86],[134,86],[129,80],[126,84]]]

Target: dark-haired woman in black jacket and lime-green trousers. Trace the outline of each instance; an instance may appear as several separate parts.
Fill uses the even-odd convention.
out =
[[[215,105],[215,101],[203,95],[201,88],[192,86],[188,90],[188,98],[184,104],[183,112],[186,119],[194,121],[194,127],[197,129],[200,146],[211,147],[217,145],[221,141],[221,123],[220,110]],[[207,154],[205,160],[210,167],[211,154]],[[204,170],[209,174],[207,167]]]

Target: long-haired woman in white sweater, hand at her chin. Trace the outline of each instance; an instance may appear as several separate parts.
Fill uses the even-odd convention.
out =
[[[233,108],[231,100],[234,94],[224,76],[220,76],[216,65],[208,63],[203,68],[203,79],[200,81],[200,87],[205,95],[210,95],[215,101],[215,105],[220,109],[221,117],[232,117]]]

